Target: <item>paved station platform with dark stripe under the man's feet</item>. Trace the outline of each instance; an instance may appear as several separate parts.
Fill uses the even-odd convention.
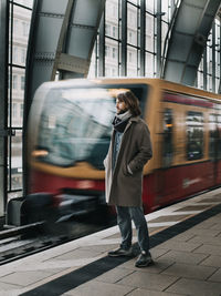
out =
[[[221,188],[146,216],[155,264],[113,258],[117,226],[0,266],[0,295],[221,295]],[[134,231],[136,246],[136,231]]]

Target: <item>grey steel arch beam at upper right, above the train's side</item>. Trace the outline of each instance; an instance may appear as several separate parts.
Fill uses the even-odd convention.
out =
[[[162,78],[193,85],[220,0],[182,0],[173,20]]]

